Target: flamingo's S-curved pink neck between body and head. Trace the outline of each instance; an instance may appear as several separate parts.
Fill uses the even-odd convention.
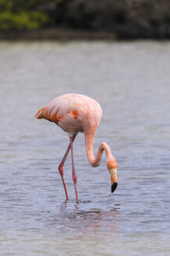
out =
[[[96,156],[96,158],[94,158],[94,150],[93,150],[94,133],[95,133],[95,131],[92,133],[91,132],[84,133],[84,136],[85,136],[88,161],[90,162],[91,166],[96,167],[96,166],[100,165],[100,163],[101,163],[101,157],[103,155],[103,151],[106,152],[107,160],[114,158],[114,157],[112,156],[112,152],[111,152],[110,148],[108,147],[108,144],[106,144],[105,142],[102,142],[100,147],[98,148],[97,156]]]

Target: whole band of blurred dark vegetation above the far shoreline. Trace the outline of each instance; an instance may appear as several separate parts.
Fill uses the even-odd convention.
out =
[[[0,31],[58,30],[169,38],[169,0],[0,0]],[[79,34],[77,34],[79,35]]]

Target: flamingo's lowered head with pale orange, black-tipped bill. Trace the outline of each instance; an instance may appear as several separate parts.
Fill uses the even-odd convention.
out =
[[[112,183],[112,193],[115,191],[116,187],[118,186],[118,178],[117,178],[117,168],[118,164],[115,162],[115,158],[108,159],[106,162],[108,172],[111,175],[111,183]]]

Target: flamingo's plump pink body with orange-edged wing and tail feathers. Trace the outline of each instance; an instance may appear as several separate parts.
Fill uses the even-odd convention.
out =
[[[101,106],[93,98],[82,94],[65,94],[55,98],[35,116],[37,119],[48,119],[73,135],[84,130],[96,130],[101,115]]]

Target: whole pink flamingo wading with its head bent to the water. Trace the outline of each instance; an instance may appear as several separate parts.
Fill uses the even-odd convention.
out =
[[[94,158],[93,144],[94,134],[97,130],[97,126],[100,123],[102,115],[101,106],[93,98],[89,98],[83,94],[64,94],[53,99],[44,108],[41,108],[35,115],[37,119],[47,119],[56,123],[62,130],[69,134],[69,147],[66,150],[66,154],[62,158],[62,162],[58,166],[58,171],[62,177],[62,183],[66,193],[66,200],[69,200],[69,195],[64,179],[64,164],[66,162],[67,155],[71,149],[72,169],[73,169],[73,183],[76,191],[76,202],[79,202],[77,191],[77,176],[74,168],[73,158],[73,141],[76,138],[77,133],[84,133],[87,158],[92,167],[96,167],[101,163],[101,157],[103,151],[106,152],[107,161],[106,166],[108,172],[111,175],[112,181],[112,193],[115,191],[117,181],[117,162],[112,156],[112,151],[108,147],[108,144],[102,142],[97,151],[97,156]]]

